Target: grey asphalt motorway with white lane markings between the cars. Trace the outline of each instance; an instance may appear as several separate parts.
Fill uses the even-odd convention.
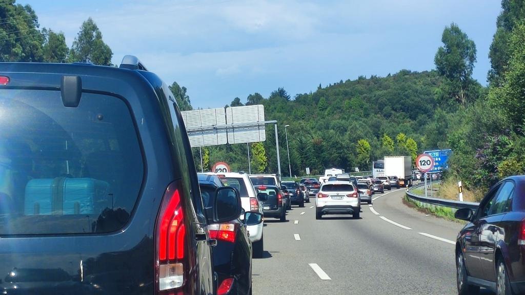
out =
[[[375,194],[360,219],[316,220],[315,198],[293,206],[286,223],[266,219],[253,293],[457,294],[454,241],[462,225],[405,206],[404,194]]]

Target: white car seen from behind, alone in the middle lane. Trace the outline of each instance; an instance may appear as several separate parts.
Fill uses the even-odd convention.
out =
[[[316,195],[316,219],[326,214],[350,214],[358,219],[361,196],[353,184],[346,181],[323,183]]]

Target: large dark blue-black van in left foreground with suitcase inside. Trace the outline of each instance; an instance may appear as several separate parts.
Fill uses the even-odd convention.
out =
[[[218,188],[206,216],[158,76],[125,56],[120,68],[0,62],[0,80],[0,290],[216,293],[206,226],[236,219],[240,197]]]

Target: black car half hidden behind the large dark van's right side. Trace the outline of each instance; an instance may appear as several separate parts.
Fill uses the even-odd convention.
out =
[[[198,182],[204,207],[213,210],[215,191],[223,187],[223,183],[216,175],[202,173],[198,173]],[[218,294],[250,293],[251,243],[246,225],[261,222],[260,213],[246,212],[243,220],[208,224],[209,236],[217,240],[213,248],[213,269],[218,276]]]

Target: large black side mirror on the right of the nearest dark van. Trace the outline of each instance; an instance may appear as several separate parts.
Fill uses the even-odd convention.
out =
[[[223,223],[238,218],[243,209],[240,204],[240,196],[237,189],[230,186],[217,188],[213,206],[213,221],[215,223]]]

